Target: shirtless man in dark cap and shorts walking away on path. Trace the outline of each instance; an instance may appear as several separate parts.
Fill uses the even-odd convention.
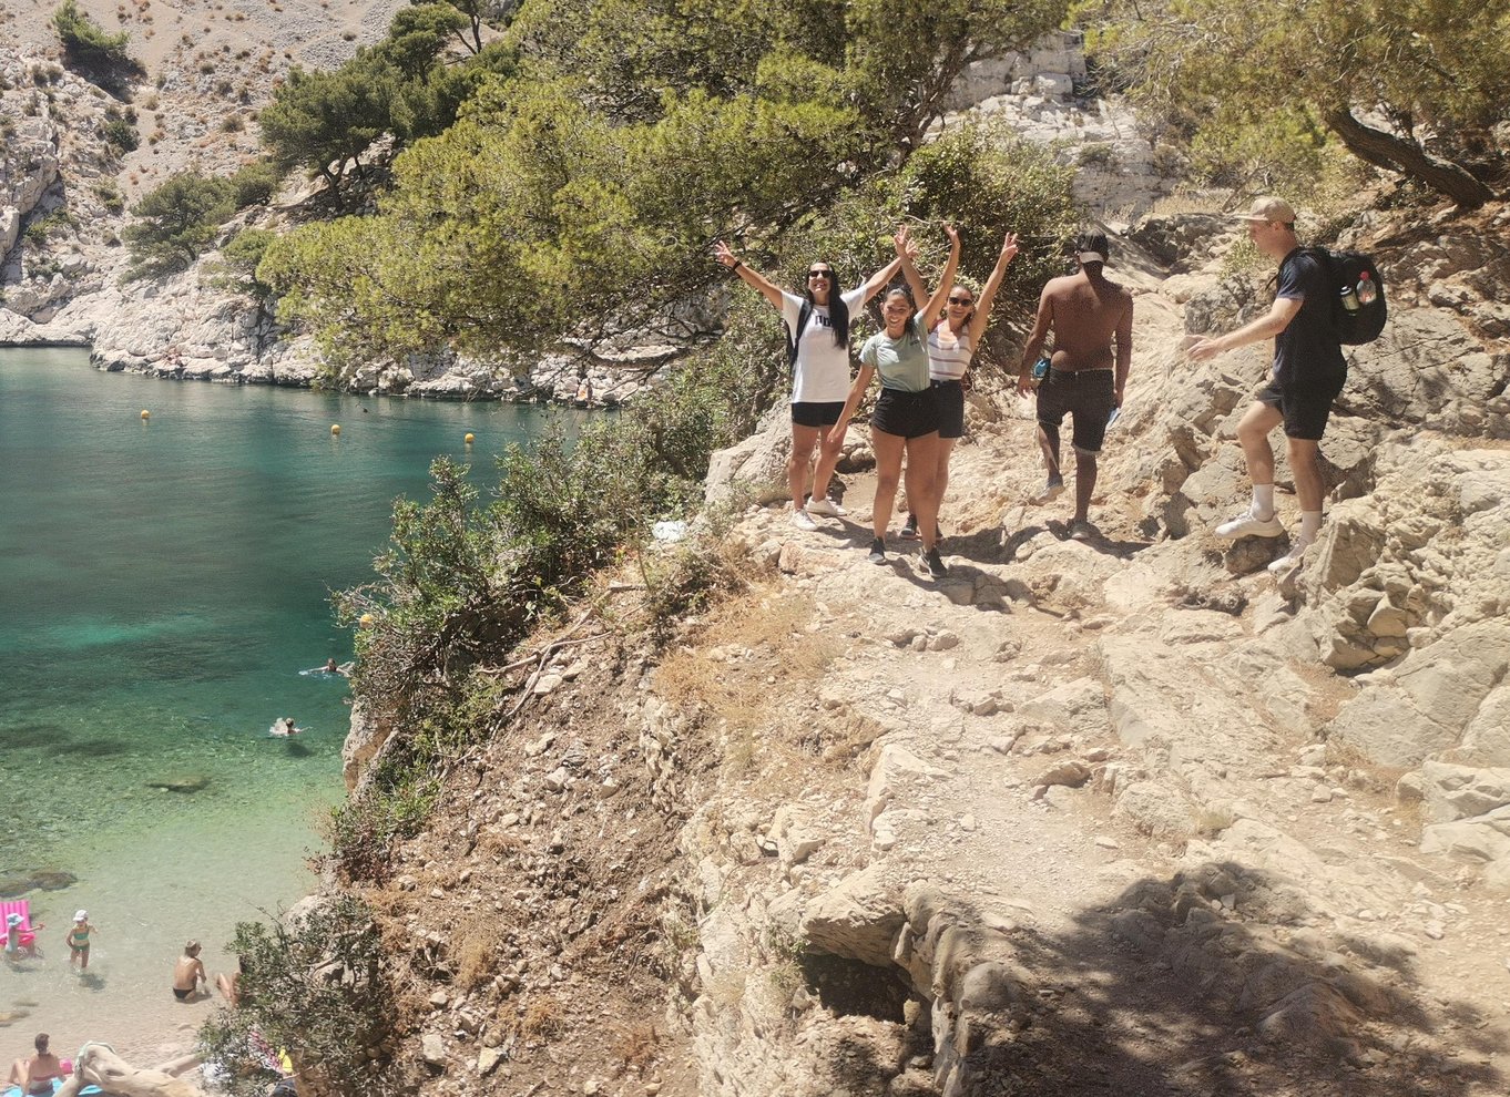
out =
[[[1031,392],[1033,362],[1052,330],[1051,368],[1037,389],[1039,447],[1048,465],[1048,483],[1033,501],[1043,504],[1065,490],[1059,469],[1059,424],[1069,412],[1075,445],[1075,519],[1069,536],[1075,540],[1089,540],[1096,531],[1089,518],[1096,456],[1105,441],[1107,419],[1122,406],[1132,365],[1132,294],[1101,273],[1110,254],[1105,232],[1081,232],[1075,241],[1080,272],[1049,279],[1043,287],[1018,374],[1018,391]]]

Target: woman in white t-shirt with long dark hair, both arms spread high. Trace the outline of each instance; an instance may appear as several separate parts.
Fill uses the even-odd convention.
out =
[[[843,294],[837,293],[834,264],[809,263],[803,296],[797,297],[782,291],[760,272],[746,267],[722,240],[714,246],[713,257],[781,309],[781,318],[787,323],[788,346],[796,340],[796,355],[791,362],[791,457],[787,459],[787,486],[791,489],[791,524],[799,530],[817,530],[818,524],[812,521],[812,515],[838,518],[844,513],[840,504],[827,498],[834,466],[840,460],[843,435],[830,442],[824,427],[838,423],[844,398],[849,395],[850,315],[891,281],[901,260],[892,260],[871,275],[868,282]],[[803,502],[814,447],[818,447],[818,466],[812,477],[812,499]]]

